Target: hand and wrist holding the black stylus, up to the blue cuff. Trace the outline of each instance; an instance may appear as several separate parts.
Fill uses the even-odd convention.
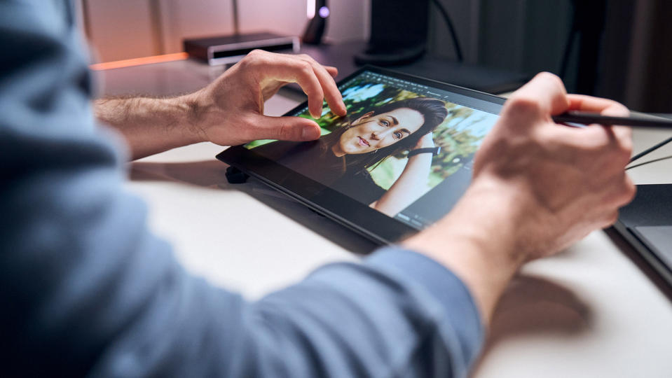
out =
[[[506,102],[451,214],[404,242],[458,274],[486,323],[523,262],[614,223],[635,195],[624,171],[630,130],[551,120],[568,110],[628,115],[617,102],[568,95],[556,76],[540,73]]]

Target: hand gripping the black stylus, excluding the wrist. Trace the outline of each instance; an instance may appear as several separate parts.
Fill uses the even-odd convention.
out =
[[[592,230],[612,225],[635,186],[626,175],[628,127],[556,125],[568,110],[628,116],[617,102],[567,95],[561,81],[542,73],[512,95],[502,118],[476,154],[474,181],[491,181],[519,194],[526,209],[516,227],[522,260],[554,253]]]

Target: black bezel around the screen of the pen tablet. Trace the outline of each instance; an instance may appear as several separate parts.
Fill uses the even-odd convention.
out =
[[[352,78],[359,76],[364,71],[371,71],[392,78],[408,80],[412,83],[427,85],[455,94],[473,97],[474,99],[491,102],[499,106],[502,106],[506,101],[505,98],[495,96],[494,94],[470,90],[465,87],[441,83],[436,80],[420,78],[418,76],[381,69],[375,66],[364,66],[362,69],[359,69],[350,76],[340,80],[337,85],[340,87],[349,80],[352,80]],[[308,102],[299,104],[291,111],[285,113],[284,116],[292,116],[296,114],[301,109],[304,109],[307,104]],[[293,197],[299,202],[306,204],[311,209],[318,211],[320,214],[324,214],[325,216],[334,219],[338,223],[355,230],[355,232],[358,232],[377,243],[390,244],[418,232],[418,229],[406,225],[406,223],[402,223],[395,218],[380,213],[380,211],[371,209],[366,204],[357,202],[334,189],[324,186],[313,179],[309,179],[298,172],[294,172],[292,169],[284,167],[284,165],[280,165],[273,160],[254,153],[254,148],[248,150],[243,146],[232,146],[219,153],[217,159],[232,167],[240,169],[240,171],[245,172],[245,174],[249,174],[249,176],[259,179],[268,186]]]

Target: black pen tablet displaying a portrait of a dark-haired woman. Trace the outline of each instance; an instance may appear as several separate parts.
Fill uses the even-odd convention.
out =
[[[338,83],[317,141],[253,141],[217,158],[380,243],[423,230],[465,193],[505,99],[364,67]],[[285,116],[313,119],[308,103]]]

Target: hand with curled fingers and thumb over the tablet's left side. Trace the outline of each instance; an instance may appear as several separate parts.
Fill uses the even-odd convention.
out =
[[[254,139],[317,139],[317,123],[300,117],[263,116],[263,102],[282,85],[299,83],[314,118],[322,116],[323,99],[334,113],[345,116],[345,104],[332,77],[337,73],[335,67],[322,66],[308,55],[254,50],[214,83],[191,95],[198,127],[205,139],[223,146]]]

